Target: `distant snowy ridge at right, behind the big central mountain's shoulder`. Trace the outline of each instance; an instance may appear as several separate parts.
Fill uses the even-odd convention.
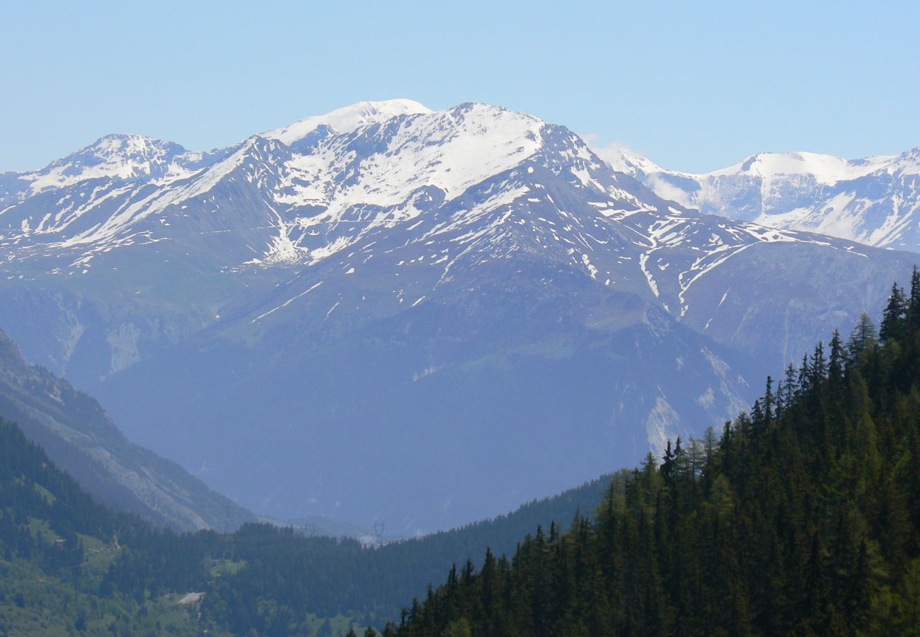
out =
[[[603,155],[661,197],[704,214],[920,251],[920,148],[855,160],[759,153],[701,175],[663,169],[623,148]]]

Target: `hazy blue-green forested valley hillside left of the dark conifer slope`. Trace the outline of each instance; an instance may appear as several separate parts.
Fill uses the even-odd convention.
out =
[[[377,549],[270,525],[176,534],[95,503],[0,421],[0,634],[312,635],[382,623],[452,562],[511,551],[527,529],[592,510],[610,479]],[[192,592],[204,596],[178,603]]]

